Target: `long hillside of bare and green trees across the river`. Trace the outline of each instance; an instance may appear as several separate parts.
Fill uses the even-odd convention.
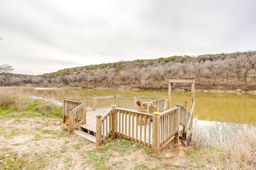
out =
[[[1,73],[0,85],[167,89],[168,78],[178,77],[196,78],[196,89],[253,90],[256,88],[256,51],[120,61],[36,76]]]

